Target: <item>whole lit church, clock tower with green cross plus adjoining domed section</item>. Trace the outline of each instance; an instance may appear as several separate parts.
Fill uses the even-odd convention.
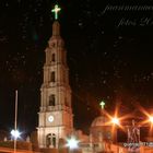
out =
[[[52,36],[45,49],[46,61],[37,127],[38,145],[40,149],[59,149],[60,139],[66,140],[74,136],[80,140],[81,152],[101,152],[106,149],[110,152],[111,127],[105,125],[107,120],[105,116],[99,116],[92,122],[90,136],[73,128],[67,50],[60,36],[60,24],[57,21],[60,9],[55,5],[52,11],[56,21],[52,24]]]

